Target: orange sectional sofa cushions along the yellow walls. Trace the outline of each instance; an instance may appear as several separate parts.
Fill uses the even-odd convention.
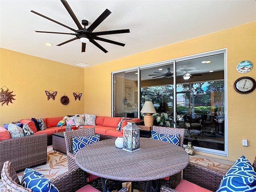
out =
[[[49,118],[43,118],[46,129],[45,130],[36,130],[36,126],[32,120],[28,119],[22,119],[20,120],[20,123],[26,123],[28,126],[33,130],[34,134],[47,134],[47,145],[52,145],[52,134],[56,132],[60,132],[61,128],[57,127],[57,124],[60,120],[62,120],[63,117],[49,117]],[[95,133],[100,134],[101,136],[109,136],[109,137],[118,137],[123,136],[123,130],[122,128],[127,125],[127,122],[137,122],[136,124],[142,125],[144,122],[140,120],[139,118],[127,118],[127,120],[122,121],[121,130],[116,130],[116,127],[122,117],[107,117],[107,116],[96,116],[95,120],[95,126],[91,125],[83,125],[84,128],[95,128]],[[80,128],[81,126],[78,126]],[[72,130],[78,129],[76,126],[71,126]],[[58,130],[58,131],[57,131]],[[66,124],[63,125],[62,131],[66,130]],[[0,140],[10,139],[10,134],[8,130],[6,130],[4,127],[0,126]]]

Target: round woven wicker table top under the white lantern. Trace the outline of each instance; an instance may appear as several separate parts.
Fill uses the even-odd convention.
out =
[[[93,175],[121,181],[148,181],[183,170],[189,156],[183,148],[151,138],[140,138],[140,150],[128,152],[115,146],[115,139],[101,140],[80,149],[78,166]]]

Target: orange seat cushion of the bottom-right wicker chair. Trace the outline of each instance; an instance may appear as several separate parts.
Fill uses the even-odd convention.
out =
[[[202,188],[194,183],[183,179],[180,181],[175,190],[178,192],[212,192],[208,189]]]

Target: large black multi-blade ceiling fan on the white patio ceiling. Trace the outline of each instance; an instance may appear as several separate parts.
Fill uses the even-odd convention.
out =
[[[74,20],[74,22],[76,23],[76,26],[78,27],[78,30],[73,29],[69,26],[66,26],[66,25],[56,21],[56,20],[53,20],[51,18],[48,18],[47,16],[44,16],[44,15],[38,13],[38,12],[35,12],[35,11],[31,10],[32,13],[37,14],[37,15],[43,17],[43,18],[46,18],[46,19],[48,19],[52,22],[55,22],[55,23],[57,23],[61,26],[64,26],[64,27],[74,31],[75,33],[48,32],[48,31],[36,31],[36,32],[74,35],[74,36],[76,36],[75,38],[72,38],[70,40],[62,42],[62,43],[58,44],[57,46],[61,46],[61,45],[64,45],[68,42],[72,42],[74,40],[80,39],[80,41],[82,42],[82,52],[85,52],[86,43],[91,42],[96,47],[98,47],[100,50],[102,50],[104,53],[107,53],[108,51],[105,48],[103,48],[100,44],[98,44],[95,40],[100,40],[100,41],[116,44],[116,45],[119,45],[119,46],[125,46],[125,44],[123,44],[123,43],[112,41],[112,40],[105,39],[105,38],[101,38],[101,37],[98,37],[98,36],[100,36],[100,35],[110,35],[110,34],[120,34],[120,33],[130,33],[129,29],[93,32],[93,30],[111,14],[110,10],[106,9],[88,28],[86,28],[86,26],[88,25],[88,21],[87,20],[82,20],[82,25],[84,25],[84,28],[83,28],[81,26],[80,22],[78,21],[78,19],[76,18],[74,12],[70,8],[68,2],[66,0],[61,0],[61,2],[64,5],[64,7],[66,8],[66,10],[68,11],[68,13],[70,14],[70,16],[72,17],[72,19]]]

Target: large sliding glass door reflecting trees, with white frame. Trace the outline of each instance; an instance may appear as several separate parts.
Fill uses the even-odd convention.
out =
[[[172,127],[186,130],[185,145],[226,155],[225,58],[218,50],[113,72],[113,116],[143,119],[140,109],[152,101],[156,112],[174,117]]]

